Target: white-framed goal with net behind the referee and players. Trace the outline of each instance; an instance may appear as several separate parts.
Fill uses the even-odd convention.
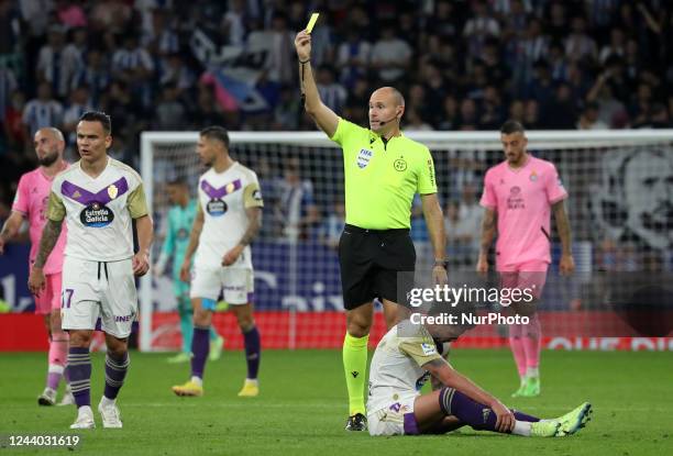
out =
[[[625,274],[658,277],[672,269],[673,131],[527,135],[528,151],[555,164],[570,193],[565,204],[577,267],[571,279],[559,276],[560,242],[552,221],[553,263],[541,303],[545,335],[565,337],[567,344],[574,336],[652,335],[639,333],[614,309],[608,309],[608,316],[600,312],[615,296],[632,292],[628,287],[615,292],[610,285],[624,282]],[[485,170],[503,159],[499,133],[409,136],[433,154],[446,219],[449,274],[474,270],[482,219],[478,199]],[[257,174],[265,202],[263,227],[252,247],[255,320],[265,347],[340,346],[345,327],[336,257],[344,213],[341,149],[320,132],[232,132],[230,138],[232,157]],[[142,134],[142,176],[156,227],[153,258],[164,240],[166,183],[186,179],[196,197],[198,177],[205,171],[196,154],[197,140],[197,132]],[[429,274],[433,255],[420,201],[413,207],[411,237],[417,274]],[[216,313],[213,321],[227,347],[242,346],[229,312]],[[383,332],[378,315],[372,340]],[[499,327],[475,334],[472,338],[484,346],[488,337],[504,335]],[[141,348],[178,346],[172,277],[147,275],[141,283]]]

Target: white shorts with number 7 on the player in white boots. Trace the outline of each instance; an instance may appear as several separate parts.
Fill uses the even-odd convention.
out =
[[[100,316],[103,332],[128,337],[137,313],[131,258],[90,262],[66,256],[60,307],[64,330],[93,330]]]

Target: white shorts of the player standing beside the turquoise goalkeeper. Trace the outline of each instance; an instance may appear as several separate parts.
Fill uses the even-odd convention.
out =
[[[190,298],[217,300],[222,290],[224,301],[245,304],[252,301],[254,273],[249,268],[202,267],[195,265],[191,271]]]

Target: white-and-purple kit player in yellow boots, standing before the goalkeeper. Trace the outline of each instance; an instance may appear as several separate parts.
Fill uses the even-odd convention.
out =
[[[201,130],[197,143],[201,163],[210,169],[199,178],[199,204],[183,260],[180,277],[191,268],[191,378],[173,387],[177,396],[202,396],[208,337],[216,300],[222,290],[243,333],[247,377],[240,397],[260,393],[260,332],[253,319],[253,265],[250,243],[262,225],[262,193],[254,171],[229,155],[229,134],[221,126]]]

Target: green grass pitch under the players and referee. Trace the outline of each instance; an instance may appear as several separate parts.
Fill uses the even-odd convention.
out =
[[[206,368],[206,394],[177,398],[170,386],[187,365],[164,354],[133,353],[119,398],[123,430],[80,431],[67,448],[3,449],[4,454],[87,455],[657,455],[673,452],[673,355],[670,353],[545,352],[542,396],[510,399],[517,379],[508,351],[454,351],[452,364],[506,404],[555,416],[584,400],[594,419],[567,438],[522,438],[463,429],[443,436],[369,437],[346,433],[341,352],[263,353],[258,398],[240,399],[241,352],[225,352]],[[0,433],[69,432],[75,408],[38,408],[45,354],[3,354]],[[93,356],[91,401],[103,387],[103,357]],[[15,452],[15,453],[14,453]]]

